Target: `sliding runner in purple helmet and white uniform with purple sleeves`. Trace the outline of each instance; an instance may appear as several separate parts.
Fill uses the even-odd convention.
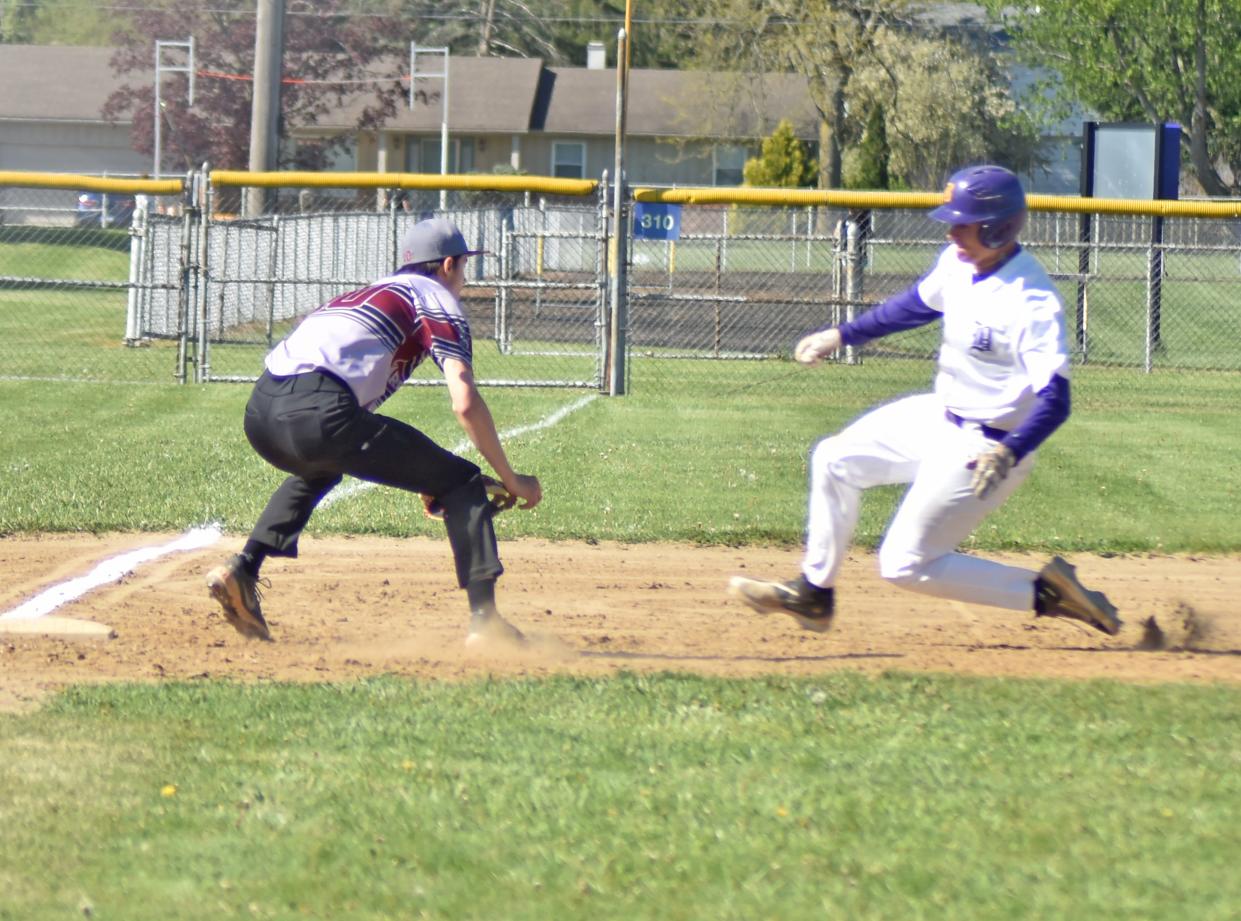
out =
[[[1018,243],[1025,215],[1013,173],[961,170],[944,204],[931,211],[949,225],[951,246],[926,277],[797,344],[797,361],[815,365],[844,345],[943,323],[934,392],[880,406],[812,451],[802,575],[791,582],[737,576],[733,596],[761,613],[787,613],[807,629],[827,631],[861,492],[908,483],[879,550],[884,578],[941,598],[1119,632],[1111,602],[1086,590],[1059,556],[1034,572],[957,552],[1030,475],[1036,448],[1069,417],[1064,309],[1041,266]]]

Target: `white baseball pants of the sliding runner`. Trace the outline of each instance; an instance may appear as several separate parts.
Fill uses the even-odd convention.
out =
[[[1028,454],[985,499],[970,489],[972,459],[994,444],[977,426],[958,427],[934,393],[880,406],[824,438],[810,453],[810,500],[802,572],[833,586],[858,526],[861,490],[894,483],[910,489],[879,550],[880,575],[941,598],[1034,609],[1036,572],[956,552],[1021,485]]]

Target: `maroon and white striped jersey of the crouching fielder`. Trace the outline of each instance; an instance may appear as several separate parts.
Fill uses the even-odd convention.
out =
[[[469,323],[452,292],[434,278],[395,274],[333,298],[308,314],[267,356],[267,370],[289,376],[329,371],[374,411],[431,355],[473,364]]]

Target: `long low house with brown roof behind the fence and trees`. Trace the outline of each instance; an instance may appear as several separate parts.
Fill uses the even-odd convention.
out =
[[[549,67],[537,58],[452,57],[448,66],[448,171],[511,168],[535,175],[598,177],[612,170],[616,72],[602,45],[589,67]],[[137,74],[117,77],[112,51],[5,46],[0,55],[0,170],[150,173],[130,148],[129,124],[99,112]],[[419,67],[419,73],[423,73]],[[151,77],[153,78],[153,77]],[[201,79],[210,79],[200,76]],[[737,185],[746,158],[781,118],[813,140],[818,132],[804,84],[772,74],[762,112],[706,114],[712,74],[637,68],[628,93],[627,173],[643,184]],[[350,135],[333,169],[438,173],[443,81],[419,77],[414,104],[377,132],[356,132],[356,97],[315,125],[288,125],[284,143]]]

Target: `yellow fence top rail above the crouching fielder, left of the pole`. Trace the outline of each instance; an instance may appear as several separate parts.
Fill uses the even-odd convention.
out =
[[[594,179],[553,179],[551,176],[514,176],[503,174],[439,173],[247,173],[212,170],[217,186],[262,189],[460,189],[490,192],[546,192],[547,195],[591,195],[598,189]]]

